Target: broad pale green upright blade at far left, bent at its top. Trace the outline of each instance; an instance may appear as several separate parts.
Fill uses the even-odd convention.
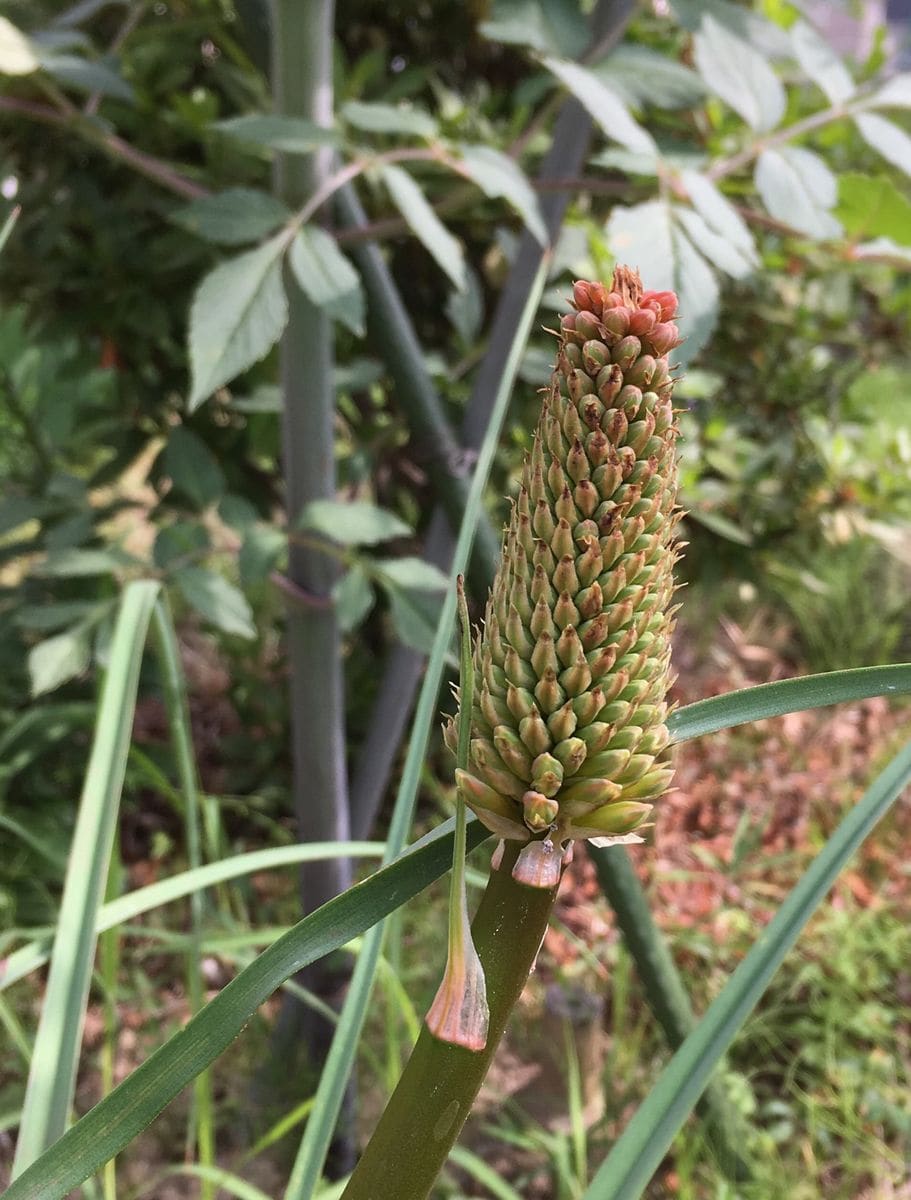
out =
[[[142,580],[130,583],[120,601],[25,1090],[13,1180],[64,1133],[70,1115],[95,958],[95,923],[116,829],[143,646],[157,594],[157,583]]]

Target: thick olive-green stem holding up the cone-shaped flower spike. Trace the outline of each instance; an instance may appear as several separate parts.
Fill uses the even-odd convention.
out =
[[[425,1200],[430,1194],[525,988],[553,906],[556,888],[515,882],[510,872],[517,853],[517,844],[508,842],[472,925],[487,979],[486,1048],[450,1045],[424,1026],[342,1200]]]

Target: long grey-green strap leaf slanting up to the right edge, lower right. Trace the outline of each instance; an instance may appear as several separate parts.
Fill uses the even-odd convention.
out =
[[[838,672],[846,674],[847,672]],[[585,1194],[585,1200],[639,1200],[713,1069],[743,1027],[839,872],[911,782],[911,743],[851,809],[792,889],[721,994],[663,1072]]]

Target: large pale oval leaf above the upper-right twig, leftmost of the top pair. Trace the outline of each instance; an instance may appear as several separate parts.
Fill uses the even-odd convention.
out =
[[[694,38],[694,58],[709,90],[757,133],[773,130],[785,115],[785,90],[768,61],[711,13]]]

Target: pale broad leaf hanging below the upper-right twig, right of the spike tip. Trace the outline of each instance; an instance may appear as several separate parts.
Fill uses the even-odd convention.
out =
[[[841,226],[829,209],[837,199],[834,175],[809,150],[763,150],[756,161],[756,191],[769,215],[809,238],[838,238]]]

